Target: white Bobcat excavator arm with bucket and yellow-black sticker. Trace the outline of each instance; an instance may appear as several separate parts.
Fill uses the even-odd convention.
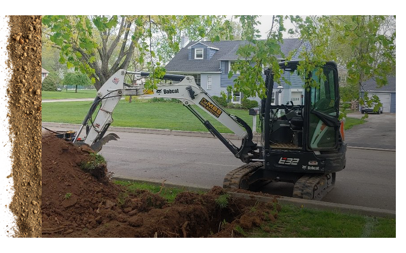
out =
[[[179,81],[179,83],[158,85],[154,90],[146,90],[143,86],[132,86],[124,83],[126,74],[137,74],[141,77],[149,75],[148,72],[130,72],[121,69],[111,76],[97,92],[97,97],[94,99],[89,112],[83,120],[81,128],[73,141],[74,143],[87,144],[98,152],[105,143],[110,140],[117,140],[117,135],[109,134],[105,136],[105,134],[113,122],[112,115],[114,108],[123,96],[175,98],[180,100],[235,157],[247,163],[252,161],[252,159],[259,158],[259,153],[255,151],[257,145],[252,142],[252,130],[250,126],[241,118],[225,111],[204,89],[196,85],[193,76],[166,74],[163,79]],[[201,108],[239,136],[242,140],[241,146],[236,147],[229,140],[226,140],[210,121],[205,119],[192,105]],[[98,111],[93,118],[97,108]],[[78,141],[78,136],[85,128],[86,137],[83,141]]]

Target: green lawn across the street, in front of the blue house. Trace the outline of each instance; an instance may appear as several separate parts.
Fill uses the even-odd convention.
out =
[[[82,123],[91,103],[91,101],[43,103],[42,121]],[[195,108],[220,133],[232,133],[208,113]],[[248,115],[248,110],[227,109],[227,111],[252,126],[252,116]],[[114,110],[113,119],[112,126],[208,132],[206,127],[180,103],[120,101]],[[257,125],[258,122],[259,116],[257,116]]]

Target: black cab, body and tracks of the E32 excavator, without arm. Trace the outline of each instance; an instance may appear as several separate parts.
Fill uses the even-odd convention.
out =
[[[246,166],[249,168],[240,179],[235,177],[235,170],[230,172],[224,180],[226,187],[255,189],[269,182],[290,182],[294,184],[293,197],[321,199],[334,186],[335,173],[346,164],[337,66],[327,62],[321,76],[313,71],[308,78],[317,87],[306,89],[297,75],[298,64],[280,63],[285,78],[294,86],[289,90],[302,91],[300,96],[295,94],[299,99],[286,104],[282,103],[289,97],[286,94],[276,92],[273,98],[274,76],[272,71],[265,71],[267,98],[262,99],[260,108],[260,159]],[[241,174],[241,170],[236,171]]]

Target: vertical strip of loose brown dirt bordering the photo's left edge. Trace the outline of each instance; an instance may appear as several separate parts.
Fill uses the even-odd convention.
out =
[[[9,95],[16,237],[41,236],[41,15],[11,15]],[[1,164],[0,164],[1,169]]]

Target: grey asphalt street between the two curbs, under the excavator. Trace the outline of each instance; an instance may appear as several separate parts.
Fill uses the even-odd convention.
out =
[[[215,138],[117,134],[120,139],[106,144],[100,154],[119,177],[221,186],[224,176],[243,164]],[[271,183],[262,191],[291,196],[292,188]],[[348,149],[347,166],[323,201],[396,210],[396,152]]]

